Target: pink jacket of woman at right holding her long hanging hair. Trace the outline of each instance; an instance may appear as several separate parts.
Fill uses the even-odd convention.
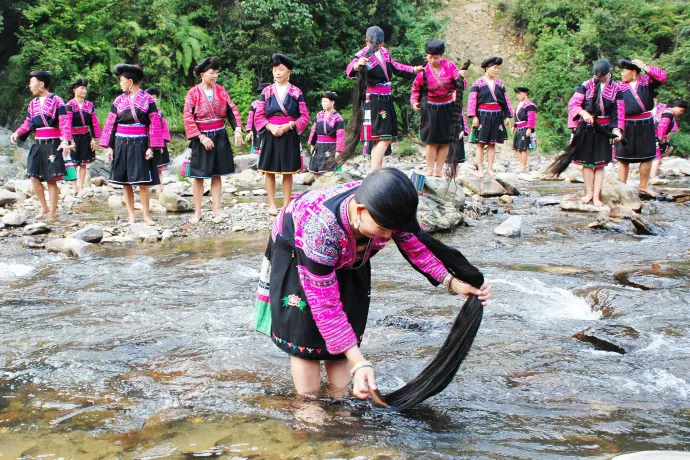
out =
[[[608,121],[608,123],[603,124],[609,124],[612,128],[622,130],[625,127],[625,104],[618,95],[618,83],[609,81],[604,86],[603,91],[600,92],[600,102],[598,104],[600,107],[603,104],[603,107],[594,113],[594,93],[596,92],[597,84],[594,78],[591,78],[583,82],[575,90],[575,94],[568,102],[568,128],[577,128],[582,110],[586,110],[595,118],[603,117],[605,121]]]

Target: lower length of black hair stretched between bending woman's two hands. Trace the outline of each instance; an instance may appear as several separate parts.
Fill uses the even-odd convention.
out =
[[[484,307],[475,295],[462,306],[453,327],[434,359],[407,385],[374,402],[397,411],[409,409],[442,392],[453,380],[472,347],[482,323]]]

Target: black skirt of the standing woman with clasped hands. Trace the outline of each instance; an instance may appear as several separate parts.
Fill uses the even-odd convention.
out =
[[[271,174],[297,174],[302,171],[299,134],[290,130],[275,137],[269,130],[261,135],[258,170]]]

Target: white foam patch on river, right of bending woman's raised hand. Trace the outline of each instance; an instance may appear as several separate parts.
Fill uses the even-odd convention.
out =
[[[537,308],[539,311],[533,312],[538,313],[537,317],[592,321],[601,318],[601,312],[592,311],[585,299],[567,289],[548,286],[533,278],[525,279],[522,283],[506,279],[492,279],[491,282],[494,285],[505,284],[527,294],[528,299],[523,299],[521,303]],[[529,302],[529,297],[534,298],[534,302]]]

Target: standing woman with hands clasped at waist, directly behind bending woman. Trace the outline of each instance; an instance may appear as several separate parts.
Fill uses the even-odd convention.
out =
[[[254,126],[261,133],[259,171],[266,174],[268,213],[276,208],[276,174],[283,176],[283,207],[292,197],[292,175],[302,170],[299,137],[309,124],[309,111],[302,91],[290,83],[295,66],[282,54],[271,56],[274,83],[264,88],[256,105]]]

